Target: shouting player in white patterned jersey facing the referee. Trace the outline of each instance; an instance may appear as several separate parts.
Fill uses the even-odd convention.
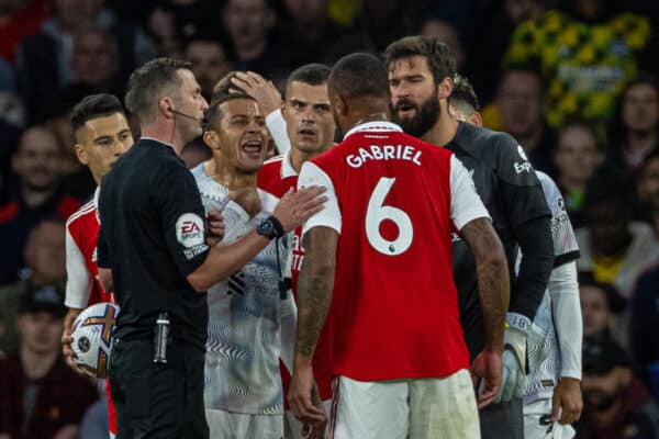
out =
[[[222,210],[231,244],[255,226],[272,238],[267,219],[277,202],[261,202],[256,175],[268,134],[257,102],[245,93],[215,95],[204,143],[213,157],[192,169],[206,211]],[[208,291],[204,405],[212,438],[280,438],[283,392],[279,358],[290,367],[295,303],[278,285],[290,235],[273,239],[228,280]],[[286,291],[283,291],[286,293]]]

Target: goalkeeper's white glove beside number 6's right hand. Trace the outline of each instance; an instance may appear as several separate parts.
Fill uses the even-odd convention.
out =
[[[503,372],[494,404],[524,396],[526,387],[526,338],[530,319],[522,314],[507,313],[503,336]]]

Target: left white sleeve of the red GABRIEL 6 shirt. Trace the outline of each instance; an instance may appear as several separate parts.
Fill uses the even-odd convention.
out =
[[[330,227],[340,234],[342,216],[334,184],[325,171],[314,164],[305,161],[304,165],[302,165],[300,177],[298,178],[298,189],[310,185],[321,185],[325,188],[326,191],[323,195],[327,198],[327,201],[323,204],[323,210],[321,212],[306,219],[306,223],[304,223],[304,226],[302,227],[302,235],[317,226]]]

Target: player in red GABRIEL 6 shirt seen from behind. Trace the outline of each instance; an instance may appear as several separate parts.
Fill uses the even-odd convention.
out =
[[[388,75],[378,58],[342,58],[328,90],[347,134],[305,162],[298,181],[325,187],[328,201],[304,225],[291,407],[306,423],[322,420],[311,359],[332,302],[334,438],[480,438],[451,232],[473,249],[487,290],[485,348],[471,368],[483,379],[484,406],[501,381],[510,286],[488,211],[450,151],[388,122]]]

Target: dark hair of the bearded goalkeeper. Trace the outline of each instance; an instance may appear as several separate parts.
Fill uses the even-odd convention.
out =
[[[413,56],[427,59],[435,83],[447,77],[453,79],[457,74],[456,57],[448,46],[435,36],[405,36],[391,43],[384,50],[384,64],[391,67],[392,63]]]

